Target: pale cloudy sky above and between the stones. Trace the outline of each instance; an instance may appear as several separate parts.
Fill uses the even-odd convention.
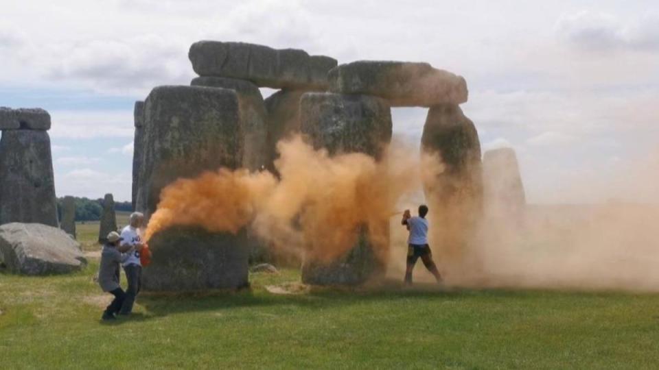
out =
[[[462,108],[483,150],[516,149],[533,203],[659,190],[630,195],[624,186],[642,181],[624,175],[629,167],[643,171],[658,154],[656,0],[0,5],[0,106],[50,112],[58,197],[130,200],[133,105],[154,86],[189,84],[187,51],[198,40],[304,49],[339,63],[429,62],[463,75]],[[426,109],[392,114],[395,134],[420,140]]]

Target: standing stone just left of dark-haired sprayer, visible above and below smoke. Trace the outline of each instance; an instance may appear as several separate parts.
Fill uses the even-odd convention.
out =
[[[316,149],[325,148],[330,155],[357,152],[378,159],[391,140],[391,110],[384,99],[377,97],[307,93],[300,102],[300,118],[303,134]],[[356,245],[331,262],[316,258],[311,245],[303,262],[302,281],[358,285],[384,273],[388,243],[371,243],[366,227],[355,230]],[[379,227],[389,230],[389,220],[382,220]]]

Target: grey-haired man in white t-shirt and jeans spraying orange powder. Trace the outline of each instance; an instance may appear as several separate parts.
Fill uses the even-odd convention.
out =
[[[119,314],[130,314],[132,312],[132,305],[135,304],[135,297],[137,297],[137,293],[141,288],[142,264],[139,261],[139,249],[143,247],[143,243],[139,228],[142,226],[143,221],[143,214],[133,212],[130,214],[130,225],[122,230],[122,246],[128,246],[130,249],[124,254],[123,265],[126,280],[128,280],[128,288]]]

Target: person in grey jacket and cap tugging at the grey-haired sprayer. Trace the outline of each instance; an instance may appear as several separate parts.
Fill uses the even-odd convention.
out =
[[[115,314],[119,312],[124,304],[126,293],[119,285],[119,266],[124,260],[124,253],[132,247],[130,245],[121,245],[122,237],[117,232],[110,232],[107,238],[108,242],[103,246],[101,252],[101,263],[98,270],[98,284],[104,292],[114,295],[115,298],[103,312],[102,320],[114,320]]]

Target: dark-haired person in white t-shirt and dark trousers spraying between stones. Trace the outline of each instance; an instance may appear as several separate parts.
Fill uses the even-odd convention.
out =
[[[407,269],[405,271],[405,284],[412,284],[412,270],[417,263],[419,257],[424,262],[426,269],[435,275],[437,282],[441,282],[441,275],[437,271],[435,262],[432,261],[432,252],[428,245],[428,207],[425,205],[419,206],[419,217],[412,217],[410,210],[405,210],[403,214],[402,225],[406,225],[407,230],[410,231],[410,236],[407,240]]]

